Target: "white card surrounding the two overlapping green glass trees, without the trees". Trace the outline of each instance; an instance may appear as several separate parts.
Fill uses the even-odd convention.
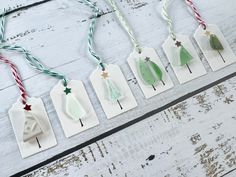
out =
[[[146,98],[151,98],[161,92],[164,92],[174,86],[171,78],[169,77],[168,73],[166,72],[163,64],[161,63],[158,55],[156,54],[153,48],[142,48],[141,53],[138,53],[136,50],[132,52],[128,58],[128,64],[134,73],[135,78],[138,81],[138,84],[143,91],[143,94]],[[155,62],[161,69],[163,73],[163,83],[160,82],[158,85],[155,86],[155,89],[152,86],[146,85],[142,79],[140,78],[139,71],[137,69],[137,62],[139,59],[150,58],[153,62]]]

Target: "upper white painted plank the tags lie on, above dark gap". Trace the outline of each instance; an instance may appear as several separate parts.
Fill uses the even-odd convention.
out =
[[[6,7],[14,6],[15,2],[3,1],[1,5],[3,4]],[[29,4],[31,2],[33,1],[22,1],[21,3]],[[20,1],[17,1],[17,3],[20,3]],[[236,52],[236,31],[234,30],[236,28],[236,12],[234,9],[236,2],[232,1],[227,4],[220,0],[209,0],[207,2],[199,0],[196,3],[208,22],[219,25],[233,51]],[[122,1],[118,5],[134,28],[140,43],[143,46],[157,49],[163,63],[167,65],[167,59],[161,51],[161,44],[167,37],[167,31],[165,23],[161,20],[159,12],[157,12],[160,2],[154,0]],[[98,1],[98,6],[104,12],[110,9],[104,1]],[[171,15],[176,20],[176,30],[185,34],[192,34],[198,25],[189,15],[185,4],[181,0],[176,0],[171,9],[173,10],[174,7],[175,11],[172,11]],[[104,57],[104,60],[121,65],[139,104],[137,109],[108,121],[90,83],[87,81],[90,72],[94,68],[93,63],[88,61],[89,55],[86,51],[86,34],[90,15],[90,9],[82,4],[76,4],[74,1],[54,0],[9,16],[6,37],[10,43],[24,45],[36,56],[40,57],[48,66],[67,74],[72,79],[82,79],[85,81],[85,86],[99,116],[100,126],[81,133],[70,140],[66,139],[49,99],[49,91],[57,83],[57,80],[33,71],[20,55],[3,52],[4,55],[8,56],[19,66],[30,95],[42,96],[59,145],[37,156],[26,160],[21,159],[7,116],[7,110],[18,98],[18,92],[8,68],[1,64],[0,126],[2,129],[0,134],[0,153],[3,154],[6,162],[11,162],[12,166],[15,167],[13,169],[11,166],[1,166],[2,175],[13,174],[35,165],[59,152],[133,120],[150,110],[156,109],[235,71],[236,65],[232,65],[224,70],[213,73],[204,60],[208,74],[190,83],[179,85],[173,71],[171,68],[168,68],[176,84],[175,88],[150,100],[145,100],[138,85],[134,84],[133,75],[126,63],[126,59],[132,51],[131,43],[126,33],[116,22],[114,14],[106,14],[98,20],[95,34],[96,48],[101,56]],[[202,54],[200,56],[202,58]],[[136,129],[132,128],[132,130],[135,131]]]

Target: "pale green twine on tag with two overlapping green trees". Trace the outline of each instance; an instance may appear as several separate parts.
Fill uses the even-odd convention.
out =
[[[127,31],[132,43],[133,43],[133,46],[135,48],[135,50],[137,52],[141,52],[141,48],[140,48],[140,45],[134,35],[134,32],[133,30],[131,29],[131,27],[129,26],[128,22],[125,20],[124,16],[122,15],[122,13],[120,12],[119,8],[117,7],[117,4],[114,0],[107,0],[110,5],[112,6],[113,10],[115,11],[115,14],[118,18],[118,20],[120,21],[120,24],[123,26],[123,28]]]

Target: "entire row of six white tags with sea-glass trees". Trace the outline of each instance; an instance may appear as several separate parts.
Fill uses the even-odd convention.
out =
[[[208,25],[207,29],[211,33],[199,27],[194,38],[212,70],[216,71],[235,62],[236,57],[217,26]],[[164,42],[163,49],[179,82],[182,84],[206,74],[190,39],[183,35],[177,35],[177,39],[181,43],[176,41],[174,44],[169,37]],[[174,86],[154,49],[134,51],[128,58],[128,63],[146,98]],[[98,67],[91,74],[90,80],[108,119],[137,106],[119,66],[107,65],[105,70]],[[99,124],[81,81],[71,80],[66,86],[60,82],[50,95],[67,138]],[[57,144],[41,99],[29,98],[29,104],[32,105],[31,111],[22,111],[20,101],[9,111],[23,158]]]

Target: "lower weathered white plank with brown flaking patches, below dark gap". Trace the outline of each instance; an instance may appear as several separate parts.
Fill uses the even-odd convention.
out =
[[[233,77],[27,176],[224,176],[236,170],[235,91]]]

